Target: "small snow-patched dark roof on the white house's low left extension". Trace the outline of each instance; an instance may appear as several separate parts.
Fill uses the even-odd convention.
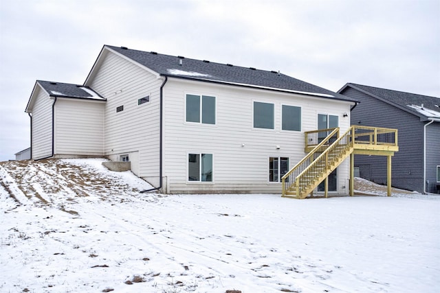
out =
[[[74,97],[81,99],[100,99],[105,101],[103,97],[100,97],[98,93],[89,89],[87,86],[66,84],[63,82],[47,82],[45,80],[37,80],[36,82],[38,82],[51,97]]]

